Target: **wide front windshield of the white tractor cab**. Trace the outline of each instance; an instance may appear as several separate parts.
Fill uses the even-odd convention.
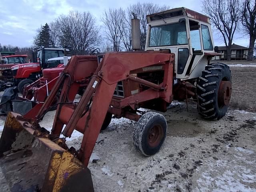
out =
[[[186,22],[150,28],[149,46],[173,46],[188,44]]]

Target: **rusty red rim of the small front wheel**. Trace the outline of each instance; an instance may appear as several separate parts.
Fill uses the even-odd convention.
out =
[[[148,145],[150,147],[156,147],[160,144],[162,138],[163,138],[163,129],[160,125],[153,126],[148,131]]]

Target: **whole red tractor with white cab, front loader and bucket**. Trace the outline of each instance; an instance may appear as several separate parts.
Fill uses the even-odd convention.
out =
[[[149,15],[147,20],[146,51],[110,52],[97,59],[73,56],[36,118],[10,112],[0,139],[0,165],[11,191],[93,191],[87,166],[100,130],[112,115],[137,121],[133,144],[144,156],[160,150],[167,123],[162,114],[139,108],[166,112],[173,99],[192,99],[203,118],[224,116],[231,74],[225,64],[209,62],[216,55],[209,18],[176,8]],[[198,42],[191,43],[191,34],[197,32],[198,37],[193,36]],[[88,78],[80,101],[74,102]],[[60,90],[48,132],[39,122]],[[84,135],[79,149],[65,144],[74,130]]]

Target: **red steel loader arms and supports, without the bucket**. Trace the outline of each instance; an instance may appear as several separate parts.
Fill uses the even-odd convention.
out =
[[[78,158],[84,163],[85,166],[87,166],[95,142],[98,138],[98,134],[100,133],[100,128],[108,110],[112,112],[112,114],[115,114],[113,108],[117,109],[120,104],[123,105],[122,108],[126,106],[132,106],[134,104],[134,99],[136,99],[135,101],[138,102],[138,104],[140,102],[156,98],[162,98],[166,103],[170,103],[172,101],[172,60],[174,60],[173,54],[165,54],[159,52],[105,54],[98,68],[95,71],[92,71],[94,72],[94,75],[92,76],[78,105],[74,106],[72,104],[64,104],[58,106],[52,127],[52,134],[60,136],[62,133],[66,137],[71,137],[72,132],[75,129],[82,132],[84,137],[82,140],[81,148],[79,150]],[[50,106],[50,102],[54,98],[54,94],[56,94],[56,90],[59,90],[63,82],[64,85],[60,96],[60,102],[67,101],[66,98],[68,95],[70,95],[70,93],[68,93],[68,89],[70,88],[71,91],[71,87],[74,86],[73,84],[75,84],[74,79],[78,79],[76,74],[78,71],[74,70],[74,68],[79,68],[80,65],[81,61],[76,59],[76,57],[72,57],[72,60],[60,75],[58,82],[55,84],[51,94],[42,106],[37,116],[38,119],[42,118],[44,112],[47,111],[47,108]],[[147,70],[145,67],[156,65],[162,66],[162,69],[165,72],[164,81],[160,85],[148,82],[140,78],[134,78],[130,75],[135,70],[143,70],[143,68],[144,70]],[[86,71],[86,73],[90,74],[88,71]],[[68,85],[68,79],[65,79],[65,76],[72,76],[71,82],[73,83],[70,85],[70,87],[66,86]],[[144,94],[142,91],[137,95],[132,95],[122,100],[112,99],[116,84],[122,80],[135,82],[137,81],[140,84],[146,84],[151,88],[149,90],[145,90],[144,92],[149,94]],[[92,106],[90,107],[90,110],[84,114],[86,106],[92,99],[92,96]],[[110,104],[113,105],[113,108],[110,108]],[[117,106],[115,106],[115,104]],[[131,114],[126,113],[123,115],[130,116]],[[133,114],[131,118],[138,120],[139,117],[137,117],[136,114]],[[64,124],[66,124],[66,127],[62,132]],[[79,125],[80,127],[78,127]]]

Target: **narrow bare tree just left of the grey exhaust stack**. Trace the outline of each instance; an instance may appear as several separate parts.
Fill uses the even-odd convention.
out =
[[[121,38],[124,34],[125,12],[122,8],[105,10],[102,22],[106,38],[112,43],[114,51],[121,51]]]

